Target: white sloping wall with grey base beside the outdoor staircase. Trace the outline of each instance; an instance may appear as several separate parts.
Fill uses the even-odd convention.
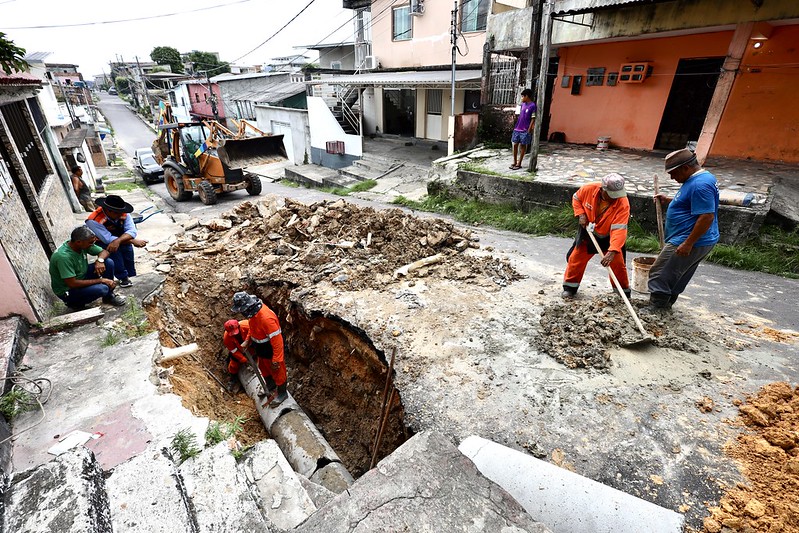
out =
[[[308,97],[308,123],[311,136],[311,161],[330,168],[349,166],[354,159],[363,156],[363,143],[360,135],[348,135],[341,129],[336,117],[318,96]],[[325,153],[328,141],[344,141],[346,155]]]

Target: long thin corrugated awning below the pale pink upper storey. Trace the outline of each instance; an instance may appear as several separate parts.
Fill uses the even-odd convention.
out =
[[[460,85],[472,85],[480,80],[483,72],[480,70],[458,70],[455,71],[455,83]],[[329,83],[340,85],[356,85],[359,87],[447,87],[452,83],[452,71],[450,70],[410,70],[404,72],[366,72],[363,74],[353,74],[351,76],[333,76],[323,78],[313,84]]]

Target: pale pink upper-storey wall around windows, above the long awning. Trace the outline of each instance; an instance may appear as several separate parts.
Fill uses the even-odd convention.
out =
[[[392,40],[392,8],[408,3],[391,4],[391,0],[372,2],[372,53],[377,56],[380,66],[398,68],[449,65],[452,60],[452,46],[449,42],[452,2],[425,2],[424,14],[411,17],[413,38],[406,41]],[[459,46],[465,56],[458,56],[459,64],[482,63],[485,35],[485,31],[463,34]]]

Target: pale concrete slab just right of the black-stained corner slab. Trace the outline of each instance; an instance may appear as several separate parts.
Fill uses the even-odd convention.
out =
[[[115,533],[192,531],[174,463],[150,449],[114,468],[106,480]]]

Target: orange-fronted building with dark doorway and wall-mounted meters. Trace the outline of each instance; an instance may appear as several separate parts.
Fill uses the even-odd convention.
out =
[[[529,28],[532,11],[491,16],[494,52],[528,46],[529,31],[508,28]],[[556,0],[553,15],[549,132],[643,150],[687,145],[702,160],[799,162],[797,2]]]

